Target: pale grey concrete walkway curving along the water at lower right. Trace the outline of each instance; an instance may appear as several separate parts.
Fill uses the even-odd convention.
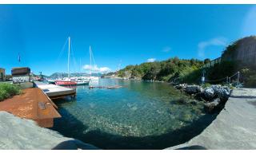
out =
[[[241,96],[249,98],[241,98]],[[206,149],[256,149],[256,89],[234,89],[225,108],[202,133],[187,143],[166,149],[202,146]]]

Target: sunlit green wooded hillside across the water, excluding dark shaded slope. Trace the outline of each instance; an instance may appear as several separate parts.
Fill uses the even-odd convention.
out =
[[[203,61],[196,59],[181,60],[178,57],[166,61],[146,62],[141,65],[128,65],[118,71],[118,77],[138,78],[142,80],[162,80],[166,82],[200,81]]]

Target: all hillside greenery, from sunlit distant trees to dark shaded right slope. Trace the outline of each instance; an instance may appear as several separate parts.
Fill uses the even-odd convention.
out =
[[[256,64],[255,61],[237,61],[238,48],[246,44],[256,43],[256,37],[244,37],[228,45],[222,53],[222,62],[210,68],[204,69],[206,81],[210,84],[226,84],[226,77],[240,72],[239,82],[246,87],[256,87]],[[202,65],[209,63],[210,59],[204,61],[195,59],[181,60],[178,57],[170,58],[166,61],[146,62],[141,65],[128,65],[125,69],[119,70],[116,77],[126,77],[142,80],[162,80],[172,83],[199,84],[202,77]],[[106,74],[110,76],[110,74]],[[222,80],[221,80],[222,79]],[[217,80],[217,81],[216,81]],[[236,82],[237,76],[231,78],[231,82]],[[210,84],[205,84],[209,86]]]

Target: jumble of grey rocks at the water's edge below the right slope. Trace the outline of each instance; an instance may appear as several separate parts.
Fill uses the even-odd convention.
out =
[[[214,113],[222,110],[230,97],[231,88],[220,84],[204,87],[203,85],[178,84],[174,88],[194,96],[196,100],[204,102],[206,112]]]

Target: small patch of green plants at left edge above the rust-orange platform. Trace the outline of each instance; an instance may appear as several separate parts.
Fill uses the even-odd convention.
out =
[[[16,84],[0,84],[0,101],[6,100],[7,98],[10,98],[21,93],[21,88]]]

